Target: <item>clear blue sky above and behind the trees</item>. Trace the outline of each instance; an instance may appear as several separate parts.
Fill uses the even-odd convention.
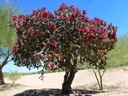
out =
[[[9,0],[13,2],[14,0]],[[59,6],[65,3],[66,5],[74,5],[80,10],[86,10],[87,16],[90,19],[98,17],[105,20],[107,23],[112,23],[118,27],[117,35],[128,33],[128,0],[19,0],[17,6],[23,14],[30,14],[33,10],[46,7],[52,13]],[[28,72],[26,68],[18,68],[13,65],[13,62],[5,66],[4,71],[20,71]],[[29,72],[37,71],[31,70]]]

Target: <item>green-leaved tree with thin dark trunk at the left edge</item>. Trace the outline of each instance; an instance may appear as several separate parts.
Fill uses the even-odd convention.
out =
[[[12,16],[17,12],[15,2],[11,5],[6,0],[0,0],[0,85],[4,84],[2,69],[11,61],[11,47],[16,40],[14,29],[9,27]]]

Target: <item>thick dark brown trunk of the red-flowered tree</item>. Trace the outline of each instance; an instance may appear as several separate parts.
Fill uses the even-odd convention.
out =
[[[62,84],[62,94],[70,94],[72,93],[71,84],[75,77],[76,70],[72,68],[70,71],[66,71],[64,76],[64,82]]]

